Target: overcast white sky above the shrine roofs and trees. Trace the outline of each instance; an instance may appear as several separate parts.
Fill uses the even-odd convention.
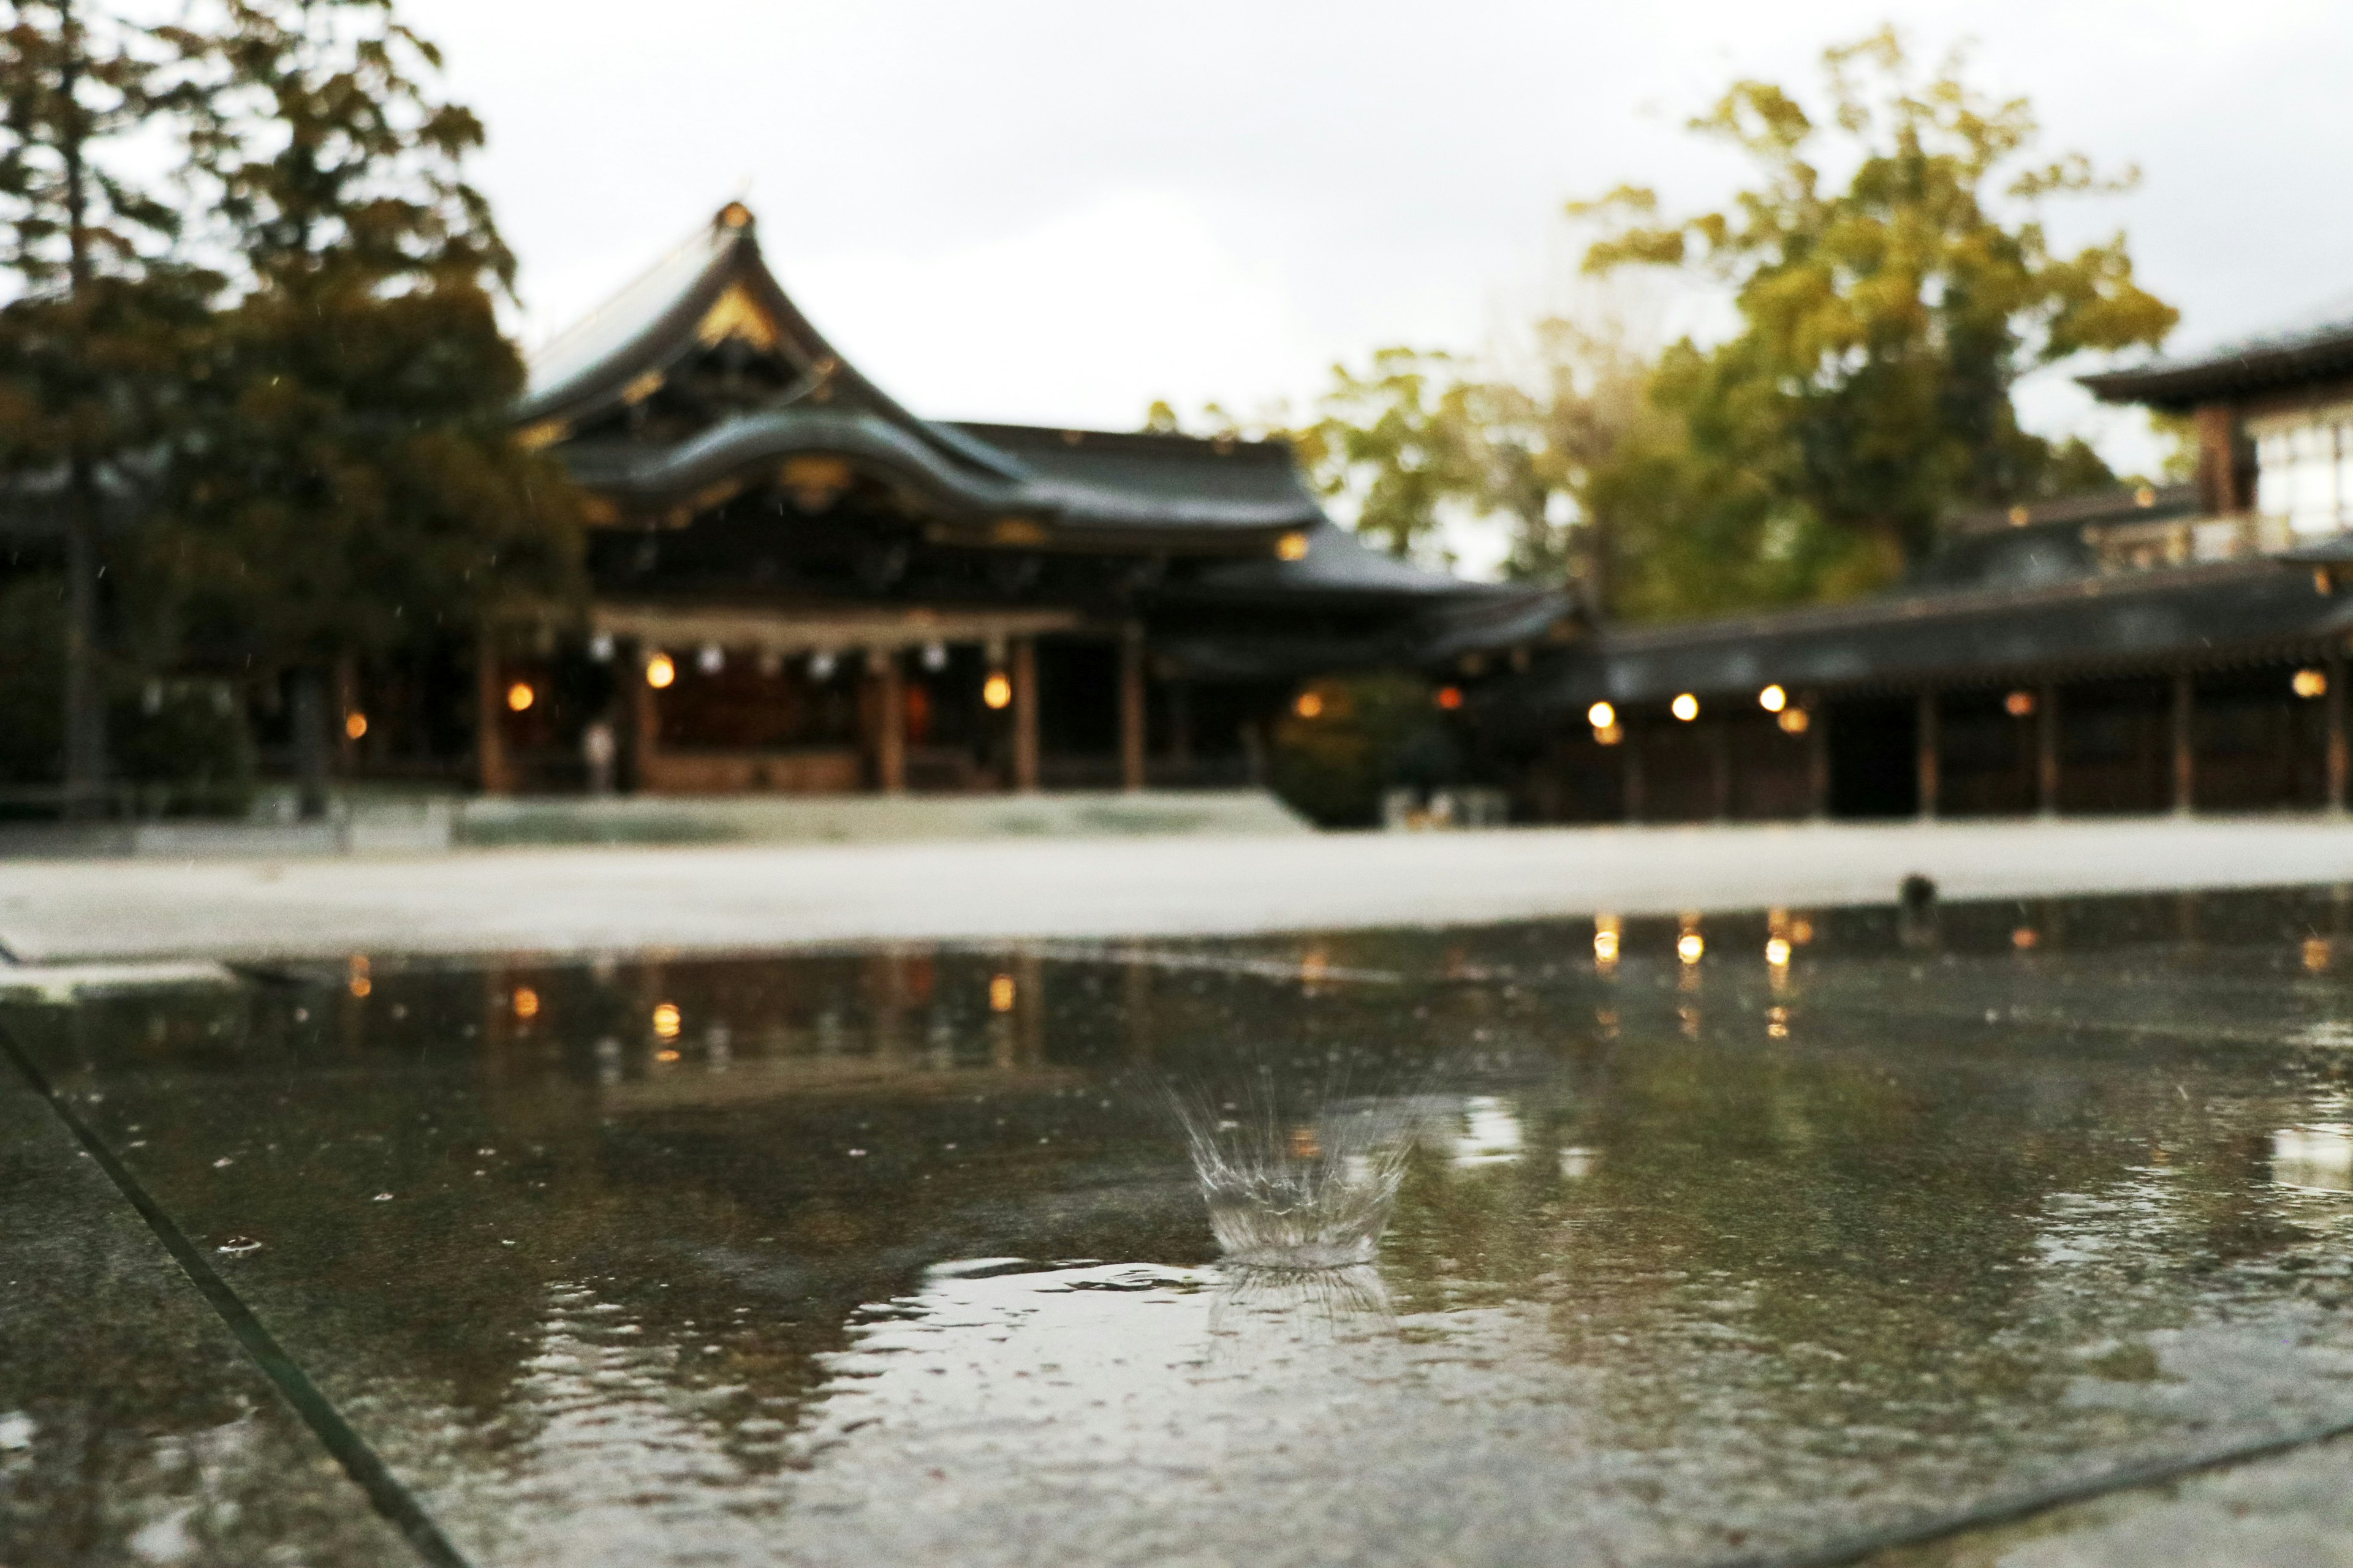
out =
[[[802,308],[918,411],[1132,428],[1308,400],[1381,343],[1480,348],[1565,270],[1560,202],[1739,176],[1682,129],[1892,19],[1974,40],[2177,346],[2353,308],[2346,0],[407,0],[489,122],[539,339],[744,193]],[[2066,388],[2045,425],[2141,461]]]

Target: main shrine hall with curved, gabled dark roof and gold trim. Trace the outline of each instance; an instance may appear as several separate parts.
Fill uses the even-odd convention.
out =
[[[1308,677],[1574,635],[1367,550],[1278,442],[906,411],[741,205],[548,343],[518,423],[593,498],[593,597],[473,654],[487,792],[1247,785]]]

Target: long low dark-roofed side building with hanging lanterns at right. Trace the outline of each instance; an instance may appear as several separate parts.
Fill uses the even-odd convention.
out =
[[[1522,820],[2341,809],[2353,322],[2085,376],[2193,484],[1960,517],[1852,604],[1605,628],[1475,703]]]

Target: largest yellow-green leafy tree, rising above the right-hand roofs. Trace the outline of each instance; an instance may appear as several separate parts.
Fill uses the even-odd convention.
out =
[[[1678,346],[1652,383],[1682,449],[1631,451],[1605,489],[1774,597],[1880,581],[1958,505],[2113,482],[2082,442],[2021,430],[2012,388],[2085,350],[2155,346],[2177,320],[2134,282],[2120,233],[2059,254],[2042,226],[2052,197],[2132,174],[2033,160],[2024,99],[1969,87],[1960,54],[1915,80],[1894,31],[1824,66],[1826,120],[1748,80],[1692,122],[1755,169],[1725,209],[1661,223],[1642,188],[1572,207],[1614,226],[1588,270],[1668,266],[1729,289],[1739,331]]]

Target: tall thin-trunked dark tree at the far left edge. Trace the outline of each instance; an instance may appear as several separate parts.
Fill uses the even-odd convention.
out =
[[[169,400],[216,280],[176,259],[179,214],[125,167],[186,106],[172,52],[87,0],[19,0],[0,31],[0,480],[64,536],[61,750],[68,816],[106,790],[99,590],[108,503],[158,465]]]

